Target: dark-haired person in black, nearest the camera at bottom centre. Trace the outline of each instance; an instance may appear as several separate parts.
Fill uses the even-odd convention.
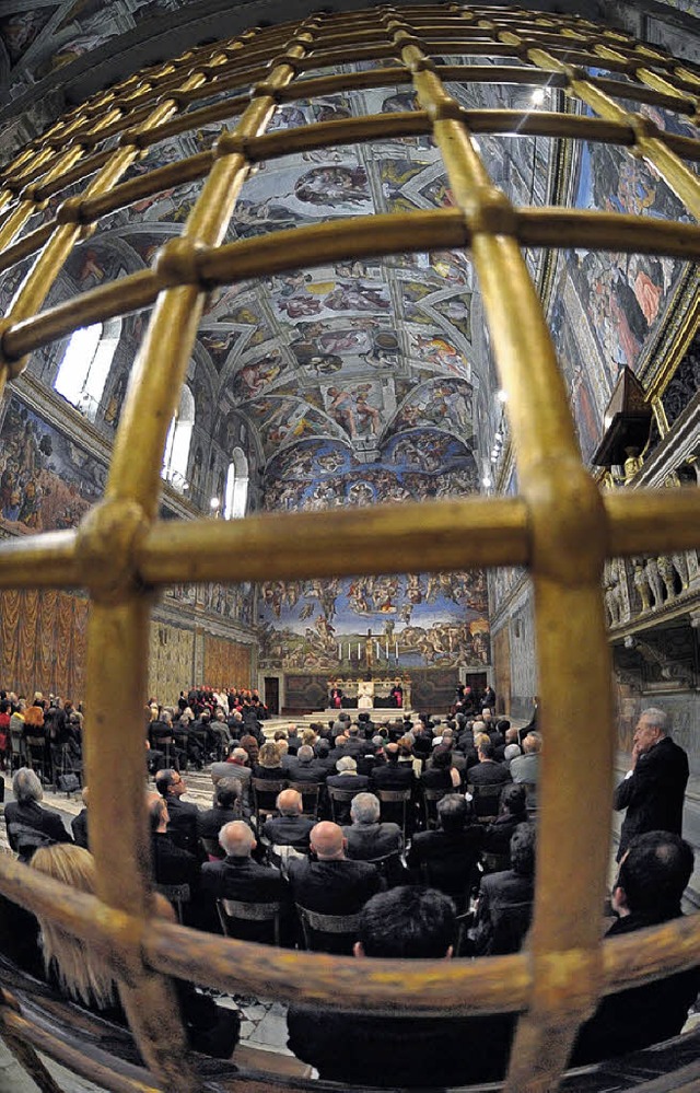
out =
[[[398,887],[362,910],[354,955],[445,960],[456,930],[454,904],[430,888]],[[440,1086],[503,1077],[513,1014],[487,1018],[388,1016],[291,1005],[288,1047],[343,1086]]]

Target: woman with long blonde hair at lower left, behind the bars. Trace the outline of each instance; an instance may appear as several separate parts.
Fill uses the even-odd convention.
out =
[[[62,881],[78,892],[95,893],[95,864],[92,854],[82,847],[38,849],[31,868]],[[153,898],[158,914],[162,918],[172,918],[170,905],[158,895]],[[109,965],[98,952],[48,919],[39,916],[38,925],[49,981],[79,1005],[107,1021],[126,1024],[117,984]],[[241,1019],[237,1012],[217,1005],[213,999],[199,993],[183,979],[174,978],[172,982],[189,1047],[214,1058],[230,1058],[238,1042]]]

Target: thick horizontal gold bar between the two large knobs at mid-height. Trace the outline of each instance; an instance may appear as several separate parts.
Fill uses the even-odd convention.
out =
[[[399,539],[397,519],[402,524]],[[269,515],[155,523],[137,547],[139,574],[149,584],[207,581],[213,574],[231,581],[294,580],[410,572],[416,567],[525,565],[528,556],[525,507],[505,499],[295,513],[289,528],[288,535],[280,534],[279,518]],[[197,550],[202,538],[206,550]]]

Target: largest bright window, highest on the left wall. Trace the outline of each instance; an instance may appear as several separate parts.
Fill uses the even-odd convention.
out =
[[[97,416],[120,335],[119,317],[81,327],[71,336],[56,373],[55,389],[90,421]]]

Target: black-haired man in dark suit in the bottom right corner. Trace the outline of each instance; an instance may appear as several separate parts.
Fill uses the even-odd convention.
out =
[[[680,836],[646,832],[630,842],[612,889],[619,915],[606,937],[619,937],[681,916],[680,899],[692,874],[693,853]],[[603,998],[582,1025],[574,1067],[638,1051],[677,1036],[700,990],[700,966]]]

